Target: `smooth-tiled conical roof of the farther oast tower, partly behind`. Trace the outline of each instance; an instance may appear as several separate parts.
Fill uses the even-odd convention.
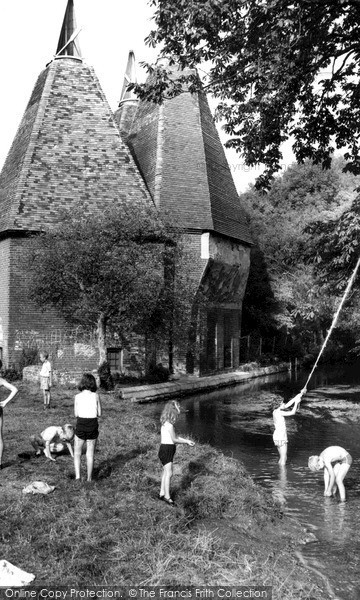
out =
[[[155,204],[179,225],[252,243],[205,94],[141,101],[128,143]]]

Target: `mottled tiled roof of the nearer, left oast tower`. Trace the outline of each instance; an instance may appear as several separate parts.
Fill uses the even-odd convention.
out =
[[[152,201],[93,69],[64,57],[40,74],[0,174],[0,232],[38,230],[78,202]]]

